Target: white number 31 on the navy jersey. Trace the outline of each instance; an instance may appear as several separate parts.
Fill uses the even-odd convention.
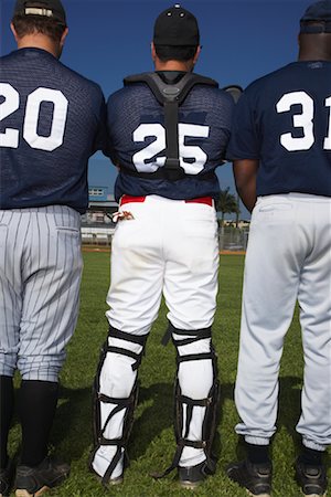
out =
[[[314,102],[306,92],[291,92],[282,95],[276,104],[277,113],[287,113],[292,105],[301,105],[302,112],[293,115],[293,127],[302,130],[302,137],[293,137],[291,133],[280,135],[280,144],[289,151],[309,150],[314,144],[313,113]],[[325,99],[325,107],[331,110],[331,97]],[[331,150],[331,112],[329,114],[329,131],[323,148]]]

